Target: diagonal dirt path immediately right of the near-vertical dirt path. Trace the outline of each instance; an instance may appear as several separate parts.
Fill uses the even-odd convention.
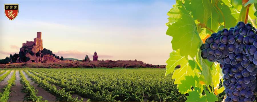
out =
[[[26,79],[30,82],[30,85],[33,85],[35,89],[38,90],[37,96],[42,96],[43,100],[48,100],[50,102],[55,101],[56,97],[54,95],[45,91],[43,88],[38,87],[38,84],[34,83],[34,81],[32,81],[24,71],[22,71],[22,73],[26,77]]]

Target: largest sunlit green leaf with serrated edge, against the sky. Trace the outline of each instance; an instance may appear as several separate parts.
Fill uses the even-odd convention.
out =
[[[173,37],[171,41],[172,49],[180,49],[180,55],[186,57],[188,55],[191,57],[197,55],[198,43],[201,42],[201,39],[194,19],[186,11],[182,3],[173,5],[167,15],[172,21],[172,23],[166,23],[168,25],[166,34]]]

